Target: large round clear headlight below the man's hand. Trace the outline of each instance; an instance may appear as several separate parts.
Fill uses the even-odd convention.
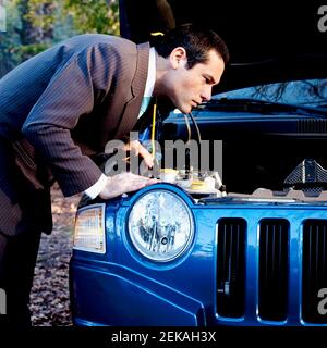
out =
[[[189,207],[177,195],[157,190],[144,195],[129,216],[134,247],[153,261],[171,261],[190,246],[194,225]]]

